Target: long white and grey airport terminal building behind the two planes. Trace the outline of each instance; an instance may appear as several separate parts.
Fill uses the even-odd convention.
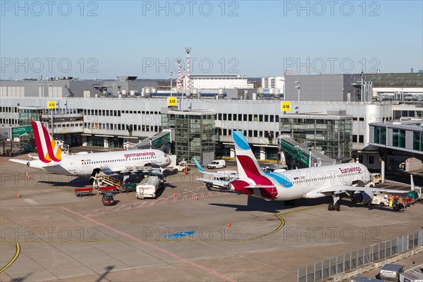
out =
[[[373,75],[374,80],[384,79],[383,75]],[[229,99],[217,94],[216,99],[178,97],[177,106],[171,107],[167,97],[154,97],[157,82],[131,77],[118,77],[116,81],[73,78],[1,81],[1,130],[6,133],[34,118],[45,121],[51,130],[52,116],[55,139],[69,145],[125,147],[168,128],[168,123],[164,123],[168,121],[167,109],[173,113],[207,110],[215,116],[217,156],[234,157],[232,133],[243,130],[258,159],[275,160],[278,139],[289,135],[313,149],[323,150],[331,158],[355,158],[369,168],[379,168],[381,151],[372,144],[370,124],[404,116],[422,118],[419,94],[423,94],[423,88],[412,85],[415,80],[421,81],[418,75],[423,73],[389,76],[389,80],[403,83],[402,92],[391,93],[386,89],[383,93],[375,91],[370,82],[361,83],[360,74],[288,75],[286,93],[280,97],[261,97],[255,93]],[[408,80],[399,82],[404,76]],[[296,82],[300,82],[300,93]],[[381,83],[384,82],[379,80]],[[407,87],[412,88],[412,94]],[[234,90],[247,93],[243,89]],[[382,99],[383,95],[391,96]],[[56,102],[55,109],[47,109],[49,101]],[[290,102],[290,111],[282,108],[286,102]],[[305,128],[307,134],[300,135]],[[331,133],[331,138],[324,132]],[[422,159],[422,148],[412,154]],[[398,155],[397,161],[407,157],[410,156]]]

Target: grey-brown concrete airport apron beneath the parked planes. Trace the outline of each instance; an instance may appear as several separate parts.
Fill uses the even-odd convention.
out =
[[[195,168],[167,176],[155,200],[123,193],[104,207],[99,195],[73,194],[87,179],[6,158],[0,164],[0,267],[16,258],[1,281],[297,281],[302,266],[417,231],[423,222],[421,202],[404,213],[348,201],[329,212],[329,197],[289,207],[207,190]]]

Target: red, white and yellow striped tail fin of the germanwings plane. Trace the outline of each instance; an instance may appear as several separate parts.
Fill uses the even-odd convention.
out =
[[[34,131],[35,145],[37,146],[38,157],[44,163],[61,161],[61,149],[56,144],[47,129],[39,121],[31,121]]]

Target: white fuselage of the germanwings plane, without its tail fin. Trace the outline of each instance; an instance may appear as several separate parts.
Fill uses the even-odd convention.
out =
[[[28,161],[27,166],[39,168],[51,173],[90,176],[96,169],[107,171],[123,171],[137,169],[144,166],[164,168],[171,164],[171,160],[164,152],[158,149],[138,149],[116,152],[82,153],[63,155],[59,162],[44,163],[39,159]]]

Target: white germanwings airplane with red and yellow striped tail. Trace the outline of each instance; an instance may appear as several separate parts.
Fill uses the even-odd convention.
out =
[[[137,149],[115,152],[62,154],[56,141],[51,138],[39,121],[31,121],[38,158],[32,161],[9,159],[50,173],[71,176],[94,176],[102,171],[106,174],[137,172],[145,166],[165,168],[171,159],[158,149]]]

